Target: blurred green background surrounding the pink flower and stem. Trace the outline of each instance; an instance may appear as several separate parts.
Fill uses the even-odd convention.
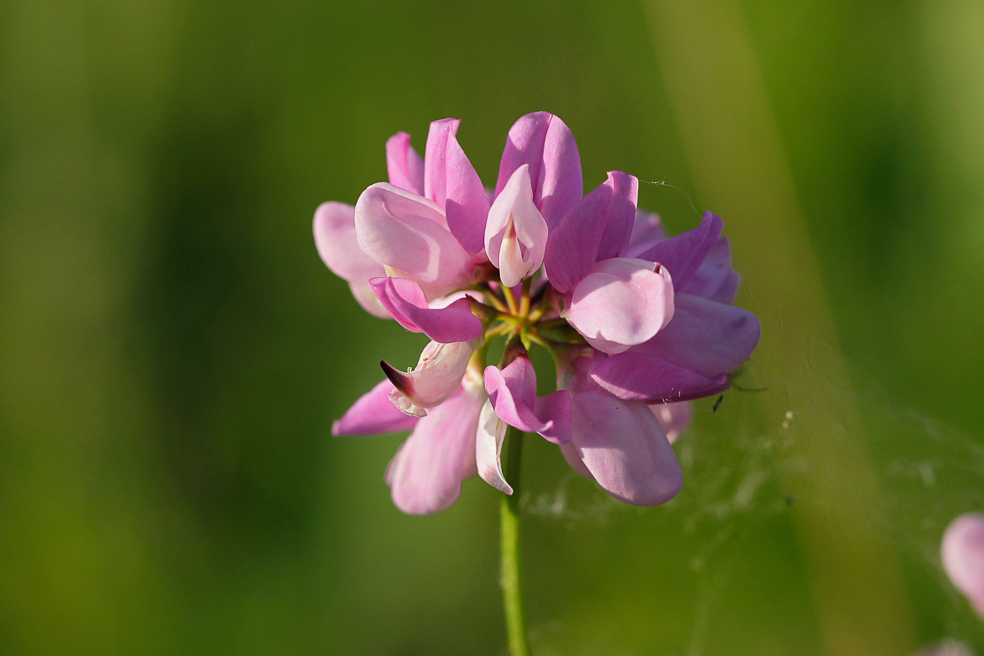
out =
[[[488,184],[559,114],[673,231],[725,221],[764,337],[680,496],[527,440],[540,654],[984,653],[938,545],[984,509],[984,4],[0,5],[0,651],[501,654],[497,492],[397,511],[331,422],[422,338],[314,208],[430,120]]]

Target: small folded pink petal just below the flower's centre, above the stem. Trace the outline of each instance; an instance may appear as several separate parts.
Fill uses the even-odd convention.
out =
[[[556,444],[571,439],[571,397],[558,390],[536,396],[536,371],[529,358],[520,356],[499,370],[485,367],[485,390],[498,415],[510,426],[538,432]]]

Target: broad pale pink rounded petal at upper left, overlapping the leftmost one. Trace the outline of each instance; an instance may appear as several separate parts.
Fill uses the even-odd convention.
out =
[[[355,204],[359,246],[376,262],[448,291],[471,283],[470,256],[427,199],[379,182]]]

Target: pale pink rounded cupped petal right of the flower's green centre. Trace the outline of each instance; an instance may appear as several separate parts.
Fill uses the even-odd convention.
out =
[[[574,288],[564,316],[587,343],[621,353],[651,339],[673,316],[673,286],[663,268],[617,257],[594,265]]]

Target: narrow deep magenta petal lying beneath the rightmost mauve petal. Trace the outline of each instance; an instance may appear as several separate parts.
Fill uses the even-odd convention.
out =
[[[728,388],[725,373],[707,377],[635,349],[598,362],[591,369],[591,379],[620,399],[646,403],[699,399]]]

